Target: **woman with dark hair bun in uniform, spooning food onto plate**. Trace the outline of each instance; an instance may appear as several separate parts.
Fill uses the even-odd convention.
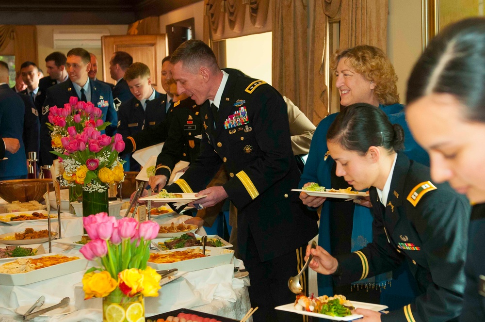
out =
[[[402,152],[404,130],[374,106],[348,106],[327,132],[336,175],[356,190],[370,188],[372,242],[351,254],[307,248],[310,268],[348,284],[409,264],[420,295],[388,314],[356,309],[363,321],[458,321],[465,289],[470,207],[448,184],[435,184],[429,168]]]

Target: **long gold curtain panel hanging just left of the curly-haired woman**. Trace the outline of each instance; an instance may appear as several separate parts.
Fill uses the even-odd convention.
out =
[[[273,3],[273,86],[316,125],[328,114],[323,60],[326,13],[336,15],[339,1]]]

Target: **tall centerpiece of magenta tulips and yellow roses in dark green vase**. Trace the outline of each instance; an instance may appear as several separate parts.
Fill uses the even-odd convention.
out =
[[[108,211],[109,184],[124,180],[124,161],[118,153],[125,143],[121,134],[101,134],[111,124],[102,117],[101,109],[78,97],[70,97],[64,108],[49,109],[51,153],[63,168],[61,184],[82,186],[83,216]]]

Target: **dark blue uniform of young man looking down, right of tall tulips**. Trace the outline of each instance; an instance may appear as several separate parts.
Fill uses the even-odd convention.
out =
[[[155,99],[161,96],[162,94],[155,91]],[[128,138],[146,127],[153,127],[162,122],[165,118],[164,102],[163,100],[161,104],[154,105],[149,104],[150,101],[148,101],[145,110],[142,103],[135,97],[121,103],[118,108],[118,133],[123,138]],[[125,171],[140,171],[140,164],[131,157],[131,154],[125,155],[123,158],[127,161],[124,165]]]

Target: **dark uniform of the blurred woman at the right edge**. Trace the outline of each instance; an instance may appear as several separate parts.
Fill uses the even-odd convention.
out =
[[[465,299],[461,322],[485,321],[485,204],[473,206],[465,264]]]

